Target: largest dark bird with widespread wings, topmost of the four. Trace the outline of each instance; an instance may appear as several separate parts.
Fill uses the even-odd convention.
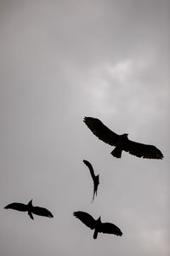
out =
[[[128,139],[128,134],[116,134],[105,126],[99,119],[93,117],[84,117],[84,123],[94,133],[96,137],[104,143],[115,146],[111,154],[116,158],[122,157],[122,150],[145,159],[162,159],[164,156],[161,151],[153,145],[144,143],[135,143]]]

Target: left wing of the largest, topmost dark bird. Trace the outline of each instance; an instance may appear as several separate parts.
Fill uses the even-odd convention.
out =
[[[111,131],[99,119],[85,117],[83,121],[94,133],[94,135],[99,137],[100,140],[102,140],[104,143],[110,144],[111,146],[116,146],[119,135],[117,135],[114,131]]]

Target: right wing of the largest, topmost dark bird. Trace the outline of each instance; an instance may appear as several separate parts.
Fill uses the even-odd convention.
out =
[[[127,140],[123,149],[130,154],[136,155],[142,158],[149,159],[162,159],[163,154],[161,151],[153,145],[147,145],[143,143],[135,143],[131,140]]]

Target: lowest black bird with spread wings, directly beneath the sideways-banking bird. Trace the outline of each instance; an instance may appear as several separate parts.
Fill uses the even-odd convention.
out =
[[[102,223],[101,216],[98,219],[94,219],[88,212],[73,212],[73,215],[80,219],[83,224],[87,225],[88,228],[94,230],[94,239],[97,238],[98,233],[113,234],[116,236],[122,236],[122,231],[112,223]]]

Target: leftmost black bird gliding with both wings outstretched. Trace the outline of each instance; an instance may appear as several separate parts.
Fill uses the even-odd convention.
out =
[[[14,202],[14,203],[8,204],[6,207],[4,207],[4,209],[13,209],[20,212],[28,212],[28,215],[30,216],[31,219],[34,219],[32,213],[40,216],[48,217],[48,218],[54,217],[53,214],[49,212],[48,209],[46,208],[33,207],[32,200],[29,201],[27,205],[23,203]]]

